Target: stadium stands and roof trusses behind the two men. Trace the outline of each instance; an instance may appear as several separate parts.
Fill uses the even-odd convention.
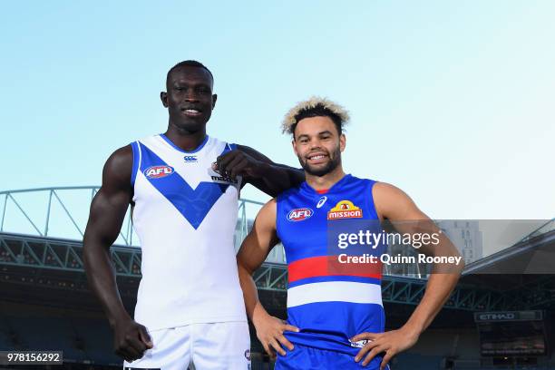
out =
[[[96,190],[0,192],[0,349],[61,350],[65,368],[121,368],[121,360],[112,353],[112,332],[83,270],[79,235]],[[36,207],[39,203],[45,208]],[[259,205],[241,200],[238,246]],[[14,219],[26,229],[10,226],[16,224]],[[61,231],[54,233],[54,224],[63,225]],[[112,247],[112,261],[129,312],[141,278],[141,249],[134,244],[128,220]],[[507,247],[467,265],[453,295],[416,346],[394,358],[395,370],[555,368],[555,221]],[[255,275],[264,306],[281,317],[286,316],[284,262],[282,248],[275,248]],[[423,297],[424,277],[416,270],[386,271],[386,329],[402,326],[411,315]],[[251,338],[252,368],[271,368],[252,330]]]

